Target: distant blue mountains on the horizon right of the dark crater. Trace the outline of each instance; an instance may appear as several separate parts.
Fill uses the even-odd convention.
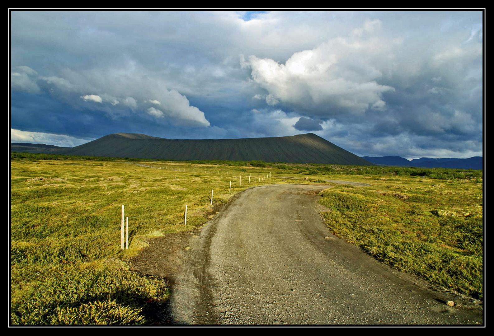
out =
[[[400,156],[362,156],[363,159],[382,166],[423,167],[423,168],[456,168],[456,169],[484,169],[482,156],[473,156],[467,159],[454,157],[435,158],[421,157],[407,160]]]

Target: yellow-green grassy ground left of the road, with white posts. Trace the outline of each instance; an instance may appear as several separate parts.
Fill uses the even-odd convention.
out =
[[[217,206],[245,188],[275,183],[249,184],[247,178],[241,186],[231,179],[237,169],[191,174],[199,169],[190,163],[175,162],[172,171],[151,168],[168,168],[163,161],[141,160],[149,166],[142,167],[130,160],[26,154],[13,154],[11,161],[10,308],[11,323],[20,325],[159,322],[166,279],[133,273],[127,260],[150,237],[204,224],[215,213],[211,189]],[[120,249],[122,204],[128,250]]]

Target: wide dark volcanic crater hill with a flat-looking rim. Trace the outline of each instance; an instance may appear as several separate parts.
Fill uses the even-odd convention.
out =
[[[11,150],[34,147],[11,144]],[[38,145],[35,145],[38,146]],[[46,145],[45,145],[46,146]],[[53,146],[55,147],[55,146]],[[171,140],[145,134],[114,133],[73,148],[43,148],[43,153],[135,157],[168,160],[233,160],[323,163],[373,166],[374,164],[313,134],[289,137],[219,140]]]

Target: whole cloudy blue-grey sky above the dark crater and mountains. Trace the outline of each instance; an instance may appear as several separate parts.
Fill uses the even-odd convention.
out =
[[[10,12],[10,142],[314,133],[483,155],[482,10]]]

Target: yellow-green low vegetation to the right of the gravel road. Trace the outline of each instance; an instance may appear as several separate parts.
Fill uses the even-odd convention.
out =
[[[483,298],[482,185],[456,181],[439,191],[405,179],[351,192],[335,186],[321,195],[320,203],[331,209],[323,216],[335,235],[394,268]]]

